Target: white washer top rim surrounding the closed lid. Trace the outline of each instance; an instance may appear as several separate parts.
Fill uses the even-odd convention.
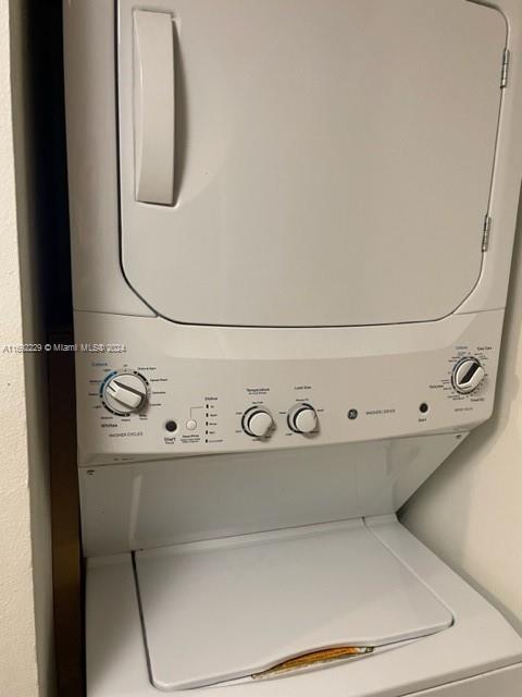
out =
[[[518,694],[522,640],[504,617],[396,522],[385,518],[370,525],[391,553],[448,607],[456,624],[369,660],[290,678],[222,686],[220,695],[417,697],[419,693],[432,697],[432,692],[423,692],[430,688],[434,697]],[[89,697],[158,695],[149,681],[129,555],[89,560],[86,619]],[[500,670],[514,665],[512,671]],[[468,683],[472,676],[480,678]],[[194,695],[188,690],[177,694]]]

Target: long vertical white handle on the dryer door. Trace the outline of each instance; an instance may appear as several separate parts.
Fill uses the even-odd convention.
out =
[[[134,13],[136,198],[174,204],[175,66],[171,14]]]

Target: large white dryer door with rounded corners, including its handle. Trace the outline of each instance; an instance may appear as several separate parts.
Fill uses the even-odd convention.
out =
[[[348,326],[462,303],[481,273],[500,13],[458,0],[150,8],[120,2],[121,249],[156,311]]]

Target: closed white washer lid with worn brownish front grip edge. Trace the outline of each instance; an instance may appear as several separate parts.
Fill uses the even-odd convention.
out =
[[[319,649],[384,647],[452,623],[361,521],[137,552],[136,574],[161,689],[250,676]]]

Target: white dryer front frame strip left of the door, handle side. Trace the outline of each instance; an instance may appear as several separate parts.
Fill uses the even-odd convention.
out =
[[[114,4],[63,3],[74,306],[151,316],[120,266]]]

